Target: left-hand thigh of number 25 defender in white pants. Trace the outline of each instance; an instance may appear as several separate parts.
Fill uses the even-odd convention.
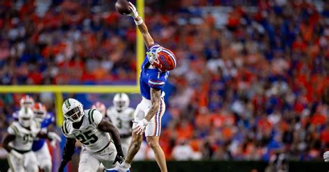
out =
[[[83,152],[80,156],[79,162],[79,172],[90,172],[90,171],[97,171],[99,169],[99,160],[97,160],[94,156],[90,154],[87,150],[83,149]]]

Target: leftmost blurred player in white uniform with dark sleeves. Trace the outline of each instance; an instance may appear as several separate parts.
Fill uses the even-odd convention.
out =
[[[61,141],[55,132],[40,132],[40,124],[33,120],[33,111],[23,107],[18,112],[18,121],[8,128],[8,135],[3,139],[3,148],[8,151],[10,171],[39,171],[32,144],[36,138]]]

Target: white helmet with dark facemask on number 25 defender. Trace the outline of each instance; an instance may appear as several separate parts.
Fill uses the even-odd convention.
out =
[[[64,101],[62,105],[62,112],[64,117],[73,123],[81,121],[83,115],[85,115],[85,112],[83,111],[83,105],[80,103],[80,101],[77,101],[74,98],[68,98],[66,101]]]

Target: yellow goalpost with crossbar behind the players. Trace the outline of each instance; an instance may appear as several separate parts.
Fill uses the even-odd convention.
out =
[[[144,18],[144,0],[137,0],[137,11]],[[56,125],[61,126],[62,115],[62,94],[63,93],[100,93],[109,94],[116,92],[136,93],[140,92],[140,66],[144,60],[144,41],[140,31],[137,31],[136,39],[137,54],[137,85],[0,85],[0,93],[42,93],[53,92],[56,106]]]

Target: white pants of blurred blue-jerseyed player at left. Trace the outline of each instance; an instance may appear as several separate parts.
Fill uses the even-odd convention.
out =
[[[37,157],[37,163],[40,166],[40,169],[43,169],[45,172],[50,172],[52,163],[47,142],[44,142],[42,148],[40,148],[40,150],[35,151],[34,153]]]

